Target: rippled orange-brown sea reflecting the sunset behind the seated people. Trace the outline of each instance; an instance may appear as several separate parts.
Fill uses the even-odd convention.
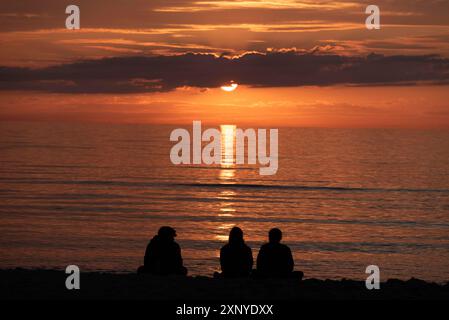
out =
[[[190,127],[187,125],[187,129]],[[0,122],[0,268],[133,272],[162,225],[190,274],[279,227],[306,277],[449,280],[449,131],[279,128],[279,170],[175,166],[169,126]]]

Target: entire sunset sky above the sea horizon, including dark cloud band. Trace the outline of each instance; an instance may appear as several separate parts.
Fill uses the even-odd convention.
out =
[[[447,0],[2,0],[0,30],[0,120],[449,128]]]

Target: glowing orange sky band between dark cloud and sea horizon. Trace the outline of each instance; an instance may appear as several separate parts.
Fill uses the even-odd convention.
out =
[[[4,120],[449,128],[448,86],[239,87],[131,95],[3,94]],[[349,97],[349,98],[348,98]],[[17,106],[23,106],[17,108]]]

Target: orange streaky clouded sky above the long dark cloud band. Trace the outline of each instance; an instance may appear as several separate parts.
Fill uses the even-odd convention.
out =
[[[344,48],[346,54],[449,57],[445,0],[377,0],[381,30],[365,27],[370,0],[77,0],[76,4],[81,30],[65,29],[64,1],[0,1],[1,64],[42,67],[80,58],[241,54],[327,43]]]

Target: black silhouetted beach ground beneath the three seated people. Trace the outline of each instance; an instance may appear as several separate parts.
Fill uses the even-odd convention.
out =
[[[364,281],[213,279],[137,274],[81,273],[80,290],[67,290],[63,271],[0,270],[1,299],[224,300],[449,300],[449,284],[388,280],[380,290]]]

